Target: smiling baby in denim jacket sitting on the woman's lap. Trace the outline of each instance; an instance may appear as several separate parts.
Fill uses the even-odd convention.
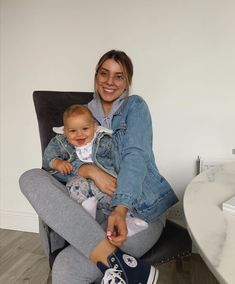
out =
[[[91,111],[83,105],[72,105],[63,114],[64,127],[54,127],[57,133],[44,151],[43,168],[59,181],[66,183],[71,198],[96,218],[96,210],[109,214],[111,197],[100,191],[90,179],[78,175],[84,163],[94,163],[113,177],[119,165],[115,159],[116,146],[112,130],[98,126]],[[131,212],[127,215],[128,236],[148,227]]]

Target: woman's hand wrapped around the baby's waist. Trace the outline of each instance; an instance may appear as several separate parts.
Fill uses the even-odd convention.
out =
[[[116,178],[104,172],[94,164],[84,164],[78,174],[84,178],[90,178],[103,193],[112,196],[116,190]]]

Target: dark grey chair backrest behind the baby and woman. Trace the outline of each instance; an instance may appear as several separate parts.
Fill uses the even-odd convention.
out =
[[[73,104],[87,104],[92,98],[92,92],[35,91],[33,93],[42,153],[55,135],[52,127],[63,125],[64,110]]]

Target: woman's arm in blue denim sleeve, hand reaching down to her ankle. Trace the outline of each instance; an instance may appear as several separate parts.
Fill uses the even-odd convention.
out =
[[[116,246],[121,246],[127,238],[126,214],[137,205],[142,194],[147,163],[152,155],[152,121],[148,106],[140,97],[129,99],[133,102],[128,109],[117,190],[107,226],[107,237]]]

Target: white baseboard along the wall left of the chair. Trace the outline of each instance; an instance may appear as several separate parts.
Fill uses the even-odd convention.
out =
[[[0,228],[38,233],[38,216],[36,213],[0,209]]]

